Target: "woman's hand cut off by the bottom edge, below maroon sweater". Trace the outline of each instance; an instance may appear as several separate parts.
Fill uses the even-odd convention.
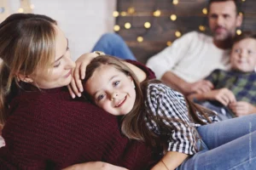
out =
[[[62,170],[128,170],[125,167],[118,167],[102,161],[90,161],[66,167]]]

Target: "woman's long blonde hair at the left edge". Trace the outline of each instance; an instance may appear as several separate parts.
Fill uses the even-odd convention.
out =
[[[56,21],[39,14],[12,14],[0,24],[0,122],[8,117],[10,98],[19,87],[17,75],[47,68],[55,56]]]

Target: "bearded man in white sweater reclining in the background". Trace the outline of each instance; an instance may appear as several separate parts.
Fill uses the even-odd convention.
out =
[[[214,69],[229,68],[232,38],[242,22],[238,1],[210,0],[208,11],[212,37],[189,32],[147,62],[157,78],[183,94],[210,90],[212,83],[202,79]]]

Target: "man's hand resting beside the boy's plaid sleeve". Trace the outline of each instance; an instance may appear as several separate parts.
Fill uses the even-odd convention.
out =
[[[213,88],[212,82],[209,82],[207,80],[201,80],[193,83],[188,82],[183,87],[183,91],[185,92],[185,94],[193,94],[193,93],[202,94],[202,93],[211,91],[212,88]]]

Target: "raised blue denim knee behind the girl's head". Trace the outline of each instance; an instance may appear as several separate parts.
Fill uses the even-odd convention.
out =
[[[113,55],[120,59],[137,60],[123,38],[115,33],[103,34],[91,51],[102,51],[105,54]]]

